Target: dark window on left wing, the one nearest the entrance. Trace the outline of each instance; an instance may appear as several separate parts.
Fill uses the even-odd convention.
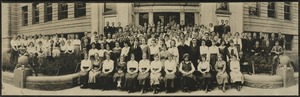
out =
[[[86,4],[75,3],[75,18],[86,15]]]

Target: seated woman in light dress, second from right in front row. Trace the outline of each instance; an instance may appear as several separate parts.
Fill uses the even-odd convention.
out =
[[[228,75],[226,73],[226,62],[222,59],[222,56],[218,56],[218,60],[215,65],[216,68],[216,78],[217,78],[217,83],[219,85],[219,89],[222,88],[222,91],[225,92],[225,84],[228,83]]]

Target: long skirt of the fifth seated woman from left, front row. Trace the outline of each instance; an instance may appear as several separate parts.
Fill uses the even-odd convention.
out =
[[[138,76],[138,73],[133,73],[133,74],[129,74],[129,73],[126,73],[125,74],[125,87],[127,89],[135,89],[136,88],[136,78]]]

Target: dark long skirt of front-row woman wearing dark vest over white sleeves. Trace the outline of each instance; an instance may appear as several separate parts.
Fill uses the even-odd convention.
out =
[[[182,74],[181,77],[181,88],[191,89],[195,86],[195,76],[193,74]]]

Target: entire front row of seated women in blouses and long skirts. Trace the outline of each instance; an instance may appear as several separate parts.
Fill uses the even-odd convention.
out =
[[[124,57],[120,57],[116,64],[110,56],[110,53],[105,53],[104,60],[100,60],[98,54],[95,54],[92,60],[87,54],[84,56],[79,73],[79,84],[82,88],[125,89],[128,93],[137,89],[145,93],[151,88],[156,94],[163,88],[166,92],[175,92],[177,87],[183,92],[190,92],[197,87],[209,92],[212,89],[213,78],[223,92],[228,83],[235,84],[238,91],[243,84],[240,62],[235,55],[229,61],[230,72],[226,72],[228,66],[221,55],[217,56],[215,67],[210,65],[205,55],[200,57],[198,66],[194,67],[188,53],[183,55],[184,60],[179,65],[172,54],[168,55],[164,64],[158,54],[154,55],[154,61],[149,61],[147,54],[143,54],[139,62],[135,60],[134,54],[131,54],[127,63],[124,62]]]

